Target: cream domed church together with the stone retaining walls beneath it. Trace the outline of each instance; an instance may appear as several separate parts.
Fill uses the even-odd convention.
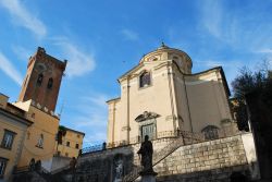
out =
[[[259,179],[254,135],[237,130],[221,66],[191,73],[189,56],[164,44],[118,78],[109,106],[107,146],[83,150],[76,180],[140,181],[148,135],[158,182]]]

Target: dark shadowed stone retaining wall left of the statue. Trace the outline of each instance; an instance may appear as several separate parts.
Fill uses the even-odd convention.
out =
[[[76,181],[111,182],[121,179],[132,170],[133,156],[131,146],[83,155],[77,161]],[[120,161],[122,165],[118,168]]]

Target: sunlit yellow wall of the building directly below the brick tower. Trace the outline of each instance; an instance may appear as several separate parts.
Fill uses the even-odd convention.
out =
[[[28,102],[28,105],[26,105]],[[32,101],[16,102],[14,105],[25,109],[28,117],[33,119],[34,124],[27,130],[24,141],[22,158],[18,167],[27,166],[32,158],[42,161],[50,160],[55,154],[55,135],[59,129],[59,118],[49,112],[33,106]],[[44,145],[37,147],[40,134],[44,135]]]

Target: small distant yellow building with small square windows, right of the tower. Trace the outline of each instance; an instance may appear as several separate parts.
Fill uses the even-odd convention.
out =
[[[58,156],[76,158],[83,147],[85,133],[69,128],[62,129],[65,130],[65,133],[62,136],[62,141],[60,141],[60,144],[57,146],[57,154]]]

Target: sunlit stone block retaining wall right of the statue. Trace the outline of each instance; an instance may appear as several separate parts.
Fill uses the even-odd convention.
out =
[[[227,181],[233,171],[247,169],[240,135],[180,147],[154,167],[158,181],[171,182]]]

